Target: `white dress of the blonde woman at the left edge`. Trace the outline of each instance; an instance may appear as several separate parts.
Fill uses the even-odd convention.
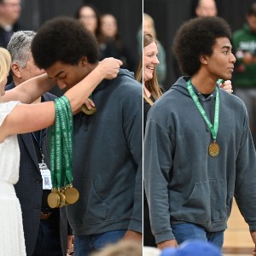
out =
[[[0,103],[0,125],[17,104]],[[6,256],[26,255],[20,201],[13,185],[18,182],[19,169],[20,148],[13,135],[0,143],[0,248]]]

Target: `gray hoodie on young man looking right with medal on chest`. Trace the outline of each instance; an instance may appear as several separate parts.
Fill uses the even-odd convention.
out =
[[[250,230],[256,230],[256,155],[245,105],[219,90],[220,152],[211,157],[212,135],[189,96],[188,79],[178,79],[148,113],[144,179],[157,243],[175,238],[172,224],[225,230],[234,195]],[[195,93],[213,124],[216,90],[207,98]]]

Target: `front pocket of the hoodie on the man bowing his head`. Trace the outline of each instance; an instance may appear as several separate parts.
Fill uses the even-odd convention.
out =
[[[102,198],[96,193],[92,179],[78,178],[73,186],[79,190],[79,201],[70,206],[68,212],[72,212],[73,223],[100,223],[106,219],[107,207]]]

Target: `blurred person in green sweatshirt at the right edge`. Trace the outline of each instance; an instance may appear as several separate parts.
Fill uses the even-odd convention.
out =
[[[250,129],[256,143],[256,2],[247,10],[247,23],[233,32],[232,44],[236,55],[234,88],[247,107]]]

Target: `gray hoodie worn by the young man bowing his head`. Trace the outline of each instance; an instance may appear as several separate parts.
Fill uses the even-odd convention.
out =
[[[143,231],[143,87],[131,72],[103,80],[92,93],[96,113],[74,116],[73,186],[67,207],[74,235]]]

